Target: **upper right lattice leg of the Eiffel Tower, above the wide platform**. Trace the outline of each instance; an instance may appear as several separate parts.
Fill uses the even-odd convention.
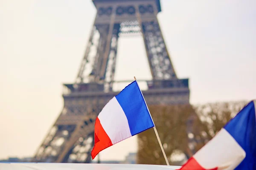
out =
[[[146,8],[150,11],[147,6],[138,6],[136,16],[143,35],[153,79],[177,79],[157,20],[157,7],[153,6],[154,17],[151,20],[148,20],[143,12],[143,9]]]

